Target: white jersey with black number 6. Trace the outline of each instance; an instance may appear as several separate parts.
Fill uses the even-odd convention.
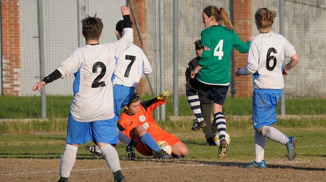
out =
[[[254,89],[283,89],[284,57],[294,54],[294,47],[282,35],[261,33],[251,41],[248,64],[239,70],[239,74],[253,74]]]

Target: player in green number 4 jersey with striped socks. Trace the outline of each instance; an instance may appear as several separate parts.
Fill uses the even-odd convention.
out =
[[[194,131],[206,126],[197,91],[205,90],[205,96],[213,100],[214,123],[220,138],[218,157],[225,158],[228,144],[225,140],[226,120],[222,107],[229,89],[230,54],[233,47],[242,53],[248,52],[250,42],[244,43],[239,39],[224,8],[205,7],[202,17],[205,25],[201,34],[203,53],[198,66],[191,71],[191,79],[186,84],[186,95],[196,116],[192,126]],[[222,22],[225,26],[222,26]]]

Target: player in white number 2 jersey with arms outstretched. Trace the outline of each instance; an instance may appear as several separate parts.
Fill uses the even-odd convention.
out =
[[[114,174],[115,182],[124,182],[119,156],[117,125],[114,119],[113,86],[115,56],[119,57],[133,41],[129,9],[121,7],[124,19],[122,38],[114,43],[100,44],[103,23],[100,18],[82,20],[86,46],[76,48],[57,69],[33,87],[33,91],[59,78],[74,73],[74,97],[68,118],[66,146],[61,156],[60,180],[68,182],[80,144],[93,140]]]

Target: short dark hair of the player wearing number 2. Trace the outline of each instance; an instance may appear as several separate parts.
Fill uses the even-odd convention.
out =
[[[98,40],[102,29],[102,19],[96,18],[96,13],[93,17],[87,15],[87,18],[82,20],[82,33],[86,40]]]

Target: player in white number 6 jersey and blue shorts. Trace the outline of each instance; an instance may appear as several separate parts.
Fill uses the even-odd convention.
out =
[[[255,142],[255,159],[247,168],[266,168],[264,160],[266,137],[282,143],[287,149],[287,158],[295,158],[298,140],[287,137],[271,125],[276,123],[276,105],[284,88],[283,76],[299,61],[294,47],[280,34],[271,31],[276,12],[260,8],[255,13],[259,34],[249,48],[247,66],[235,68],[236,76],[251,75],[253,79],[252,122]],[[284,57],[291,60],[283,67]],[[283,74],[283,75],[282,75]]]

